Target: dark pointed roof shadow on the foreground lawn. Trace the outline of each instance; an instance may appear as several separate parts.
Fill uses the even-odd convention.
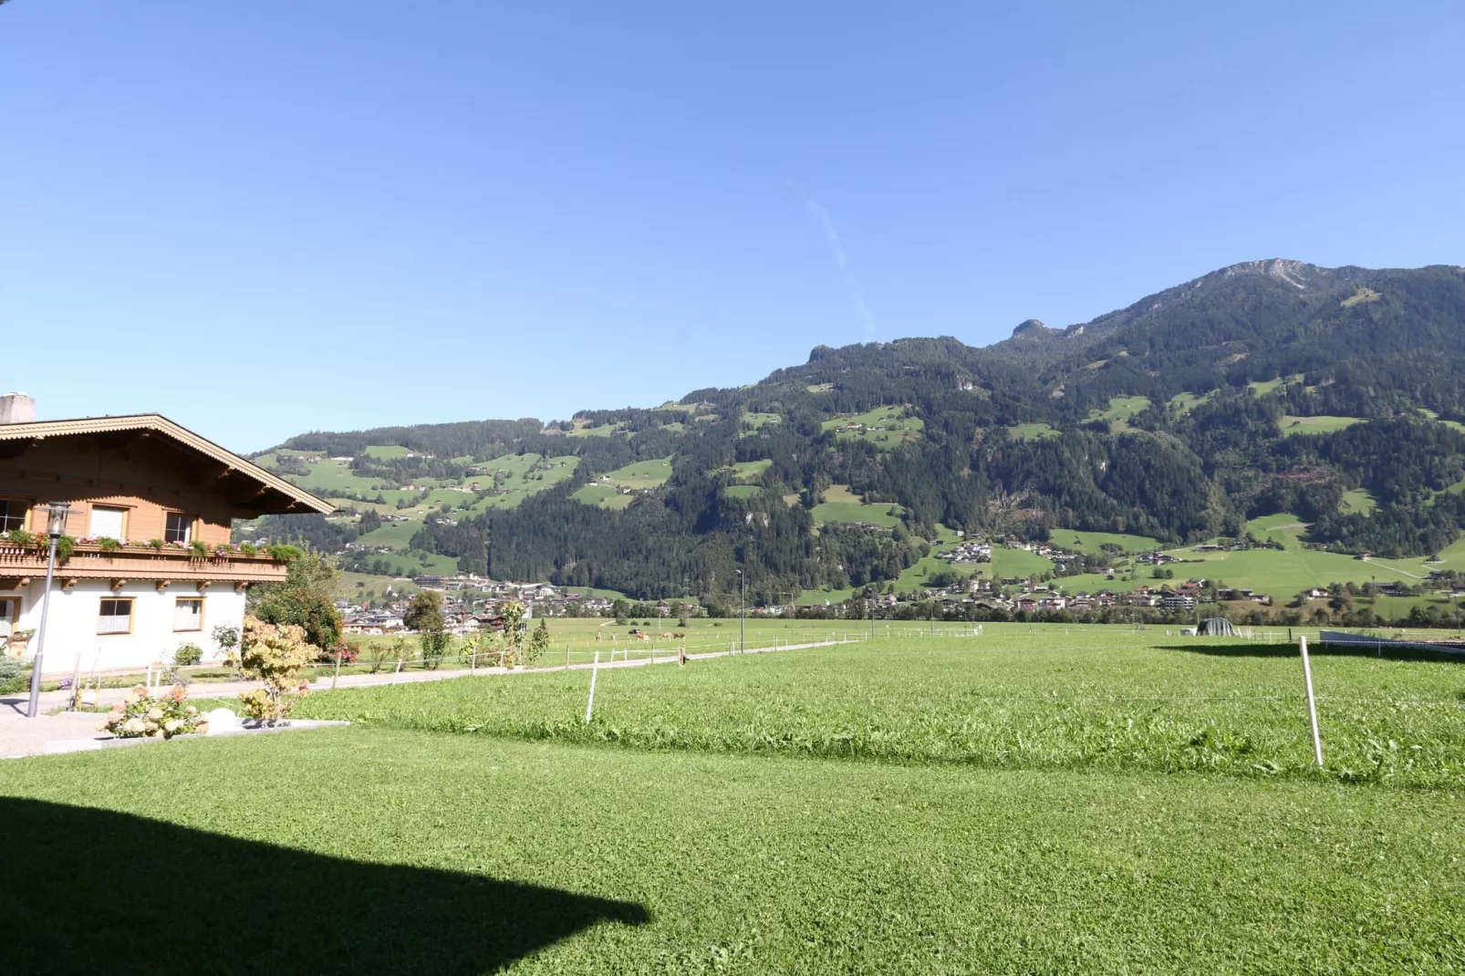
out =
[[[10,973],[483,973],[639,904],[0,797]]]

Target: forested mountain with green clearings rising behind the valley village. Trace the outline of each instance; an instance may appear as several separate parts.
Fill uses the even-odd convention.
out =
[[[987,347],[819,346],[659,407],[302,434],[261,463],[366,514],[259,530],[365,572],[643,598],[746,569],[769,601],[891,586],[955,530],[1181,544],[1292,513],[1311,545],[1421,555],[1465,517],[1462,366],[1465,268],[1251,261]]]

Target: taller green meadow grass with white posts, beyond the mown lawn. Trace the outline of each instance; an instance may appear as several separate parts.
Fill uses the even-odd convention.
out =
[[[322,693],[300,714],[390,728],[993,769],[1314,777],[1291,648],[1116,630],[839,649]],[[1187,649],[1175,649],[1171,645]],[[1326,775],[1465,785],[1465,664],[1326,655]]]

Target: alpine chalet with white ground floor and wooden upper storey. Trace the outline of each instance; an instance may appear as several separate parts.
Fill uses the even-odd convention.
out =
[[[51,507],[70,547],[57,558],[42,671],[171,662],[180,645],[217,659],[249,586],[286,563],[230,539],[233,519],[330,513],[330,503],[155,413],[35,421],[0,397],[0,636],[35,652]],[[252,548],[252,547],[251,547]]]

